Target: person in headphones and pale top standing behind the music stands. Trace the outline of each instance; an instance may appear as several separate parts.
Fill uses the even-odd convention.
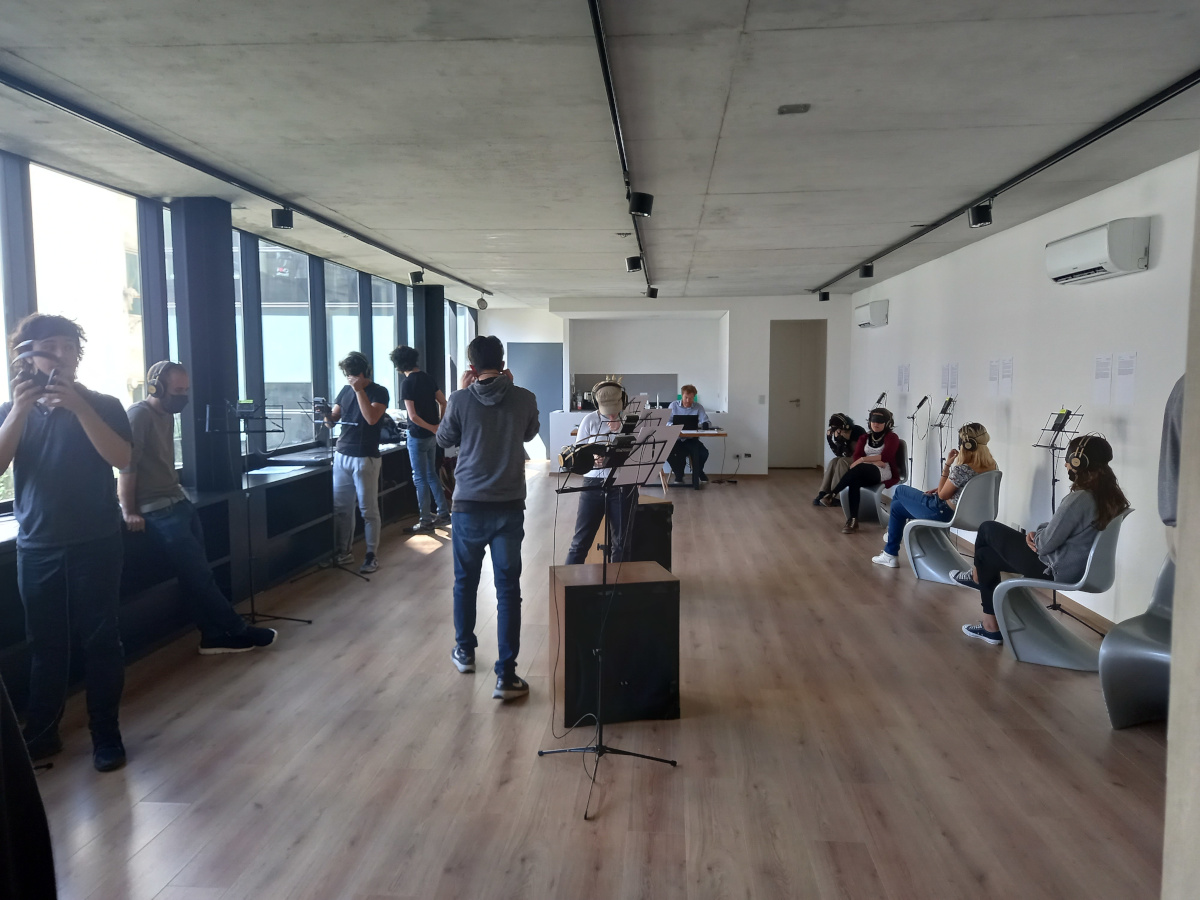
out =
[[[592,389],[592,397],[595,400],[596,412],[583,416],[575,436],[576,445],[604,445],[610,434],[620,432],[620,413],[629,406],[629,395],[625,390],[617,382],[600,382]],[[596,456],[596,461],[601,461],[600,455]],[[637,505],[637,485],[612,488],[608,492],[608,506],[605,509],[605,497],[600,486],[608,478],[608,472],[605,468],[595,468],[583,479],[583,486],[592,490],[580,492],[580,506],[575,514],[575,538],[571,539],[571,548],[566,553],[568,565],[577,565],[587,559],[596,532],[600,530],[600,521],[606,514],[612,532],[612,562],[620,563],[629,553],[629,532],[634,508]]]

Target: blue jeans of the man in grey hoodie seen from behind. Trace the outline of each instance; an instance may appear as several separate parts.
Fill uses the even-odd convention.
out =
[[[496,638],[499,659],[496,674],[512,674],[521,650],[521,541],[524,539],[524,510],[454,512],[454,630],[455,641],[475,654],[475,596],[484,569],[484,551],[492,550],[492,577],[496,581]]]

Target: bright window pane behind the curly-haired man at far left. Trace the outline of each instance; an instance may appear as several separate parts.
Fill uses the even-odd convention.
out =
[[[137,202],[29,167],[37,308],[74,319],[79,380],[130,406],[145,396]]]

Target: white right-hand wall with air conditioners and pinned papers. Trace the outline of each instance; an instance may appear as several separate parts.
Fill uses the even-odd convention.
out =
[[[887,390],[902,420],[924,394],[940,402],[942,365],[958,362],[955,422],[978,420],[991,432],[992,452],[1004,472],[1001,521],[1028,527],[1050,516],[1049,451],[1032,444],[1051,410],[1081,404],[1084,431],[1109,438],[1114,469],[1136,511],[1122,529],[1115,588],[1075,599],[1112,620],[1145,610],[1165,552],[1157,514],[1158,445],[1163,404],[1184,367],[1195,204],[1193,154],[853,299],[858,306],[886,298],[890,310],[884,328],[851,328],[851,414],[862,415]],[[1046,277],[1048,241],[1123,216],[1152,217],[1148,271],[1073,286]],[[1094,402],[1096,356],[1134,352],[1133,402]],[[1012,398],[992,398],[989,361],[1004,358],[1013,359]],[[896,394],[901,364],[912,367],[907,397]],[[907,422],[901,433],[907,439]],[[919,473],[924,446],[918,444]],[[929,455],[932,472],[936,444]],[[1066,480],[1058,485],[1060,499],[1068,487]]]

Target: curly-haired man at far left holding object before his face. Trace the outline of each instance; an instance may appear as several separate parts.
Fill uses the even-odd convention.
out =
[[[132,456],[115,397],[76,382],[84,334],[62,316],[34,313],[13,331],[12,401],[0,406],[0,473],[13,467],[17,587],[29,640],[25,748],[35,762],[62,750],[72,643],[82,646],[92,764],[125,764],[118,722],[125,658],[118,608],[121,511],[113,468]]]

